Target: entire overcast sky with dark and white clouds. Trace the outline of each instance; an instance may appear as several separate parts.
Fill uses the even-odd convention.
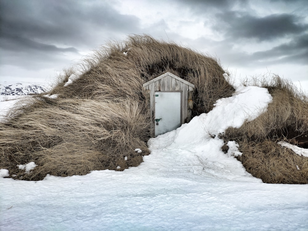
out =
[[[275,73],[308,90],[307,0],[0,0],[0,80],[52,82],[128,34],[208,53],[237,79]]]

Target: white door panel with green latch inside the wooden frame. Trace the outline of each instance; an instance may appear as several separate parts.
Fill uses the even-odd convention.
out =
[[[155,91],[155,136],[181,126],[181,92]]]

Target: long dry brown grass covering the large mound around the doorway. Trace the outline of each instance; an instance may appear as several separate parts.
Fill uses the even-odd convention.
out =
[[[166,71],[195,84],[193,115],[234,91],[216,59],[148,35],[129,36],[64,71],[50,91],[57,98],[39,95],[9,112],[0,124],[0,168],[16,179],[41,180],[137,166],[149,154],[142,85]],[[29,174],[18,169],[31,161],[38,166]]]

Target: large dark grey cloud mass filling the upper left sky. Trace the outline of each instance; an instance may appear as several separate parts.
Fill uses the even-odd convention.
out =
[[[2,1],[0,15],[1,37],[70,47],[91,46],[104,31],[130,33],[139,25],[135,16],[121,15],[107,3],[94,1]]]

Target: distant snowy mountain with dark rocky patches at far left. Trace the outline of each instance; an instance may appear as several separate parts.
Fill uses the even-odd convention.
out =
[[[0,95],[30,95],[48,91],[44,83],[0,82]]]

